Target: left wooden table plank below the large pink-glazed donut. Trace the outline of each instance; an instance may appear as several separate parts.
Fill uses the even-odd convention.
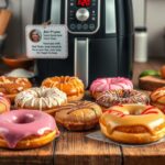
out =
[[[53,165],[53,151],[54,143],[33,150],[0,148],[0,165]]]

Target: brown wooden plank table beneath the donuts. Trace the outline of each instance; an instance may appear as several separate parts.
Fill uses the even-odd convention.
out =
[[[135,64],[133,81],[144,69],[158,69],[164,61]],[[73,133],[61,129],[61,136],[36,150],[0,150],[0,165],[164,165],[165,143],[146,147],[122,147],[90,140],[89,132]]]

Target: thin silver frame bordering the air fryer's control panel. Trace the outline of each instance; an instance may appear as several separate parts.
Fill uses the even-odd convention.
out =
[[[68,0],[65,0],[65,24],[67,24],[67,6],[68,6]],[[68,32],[72,33],[72,34],[95,34],[98,32],[98,30],[100,29],[100,11],[101,11],[101,4],[100,4],[100,0],[98,0],[98,26],[96,29],[96,31],[94,32],[74,32],[74,31],[70,31],[68,29]]]

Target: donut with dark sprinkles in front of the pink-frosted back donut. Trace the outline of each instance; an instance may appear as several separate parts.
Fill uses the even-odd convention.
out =
[[[103,111],[116,105],[150,102],[148,96],[138,90],[108,90],[97,96],[96,102]]]

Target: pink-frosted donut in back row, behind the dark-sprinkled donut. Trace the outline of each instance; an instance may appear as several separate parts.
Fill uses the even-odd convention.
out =
[[[96,98],[100,92],[119,89],[132,90],[133,84],[130,79],[123,77],[98,78],[92,81],[89,91],[91,96]]]

